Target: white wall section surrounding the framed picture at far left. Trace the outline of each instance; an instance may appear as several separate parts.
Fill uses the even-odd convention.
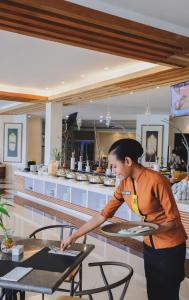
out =
[[[22,123],[22,160],[20,163],[4,162],[6,164],[6,178],[12,180],[14,171],[22,170],[27,162],[27,116],[0,116],[0,161],[3,162],[3,145],[4,145],[4,123]]]

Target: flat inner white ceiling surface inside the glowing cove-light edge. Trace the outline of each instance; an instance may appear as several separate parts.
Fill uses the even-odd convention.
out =
[[[52,88],[132,61],[3,30],[0,41],[0,82],[18,87]]]

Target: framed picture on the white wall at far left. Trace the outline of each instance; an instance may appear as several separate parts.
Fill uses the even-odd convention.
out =
[[[22,161],[22,123],[4,123],[3,161]]]

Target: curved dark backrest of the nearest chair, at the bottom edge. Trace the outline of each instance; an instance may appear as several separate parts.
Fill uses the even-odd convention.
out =
[[[123,286],[123,289],[121,291],[121,295],[118,298],[116,296],[116,300],[123,300],[130,282],[131,277],[133,276],[133,269],[131,266],[125,263],[121,262],[115,262],[115,261],[105,261],[105,262],[96,262],[96,263],[89,263],[89,267],[98,266],[100,268],[100,272],[102,275],[102,279],[104,282],[104,286],[96,288],[96,289],[90,289],[90,290],[84,290],[81,292],[76,292],[75,296],[83,296],[88,295],[90,300],[93,300],[93,294],[107,292],[108,293],[108,299],[114,300],[112,290],[116,287]],[[104,266],[115,266],[115,267],[121,267],[125,268],[126,274],[123,276],[123,278],[119,279],[118,281],[115,281],[111,284],[108,283],[107,276],[105,274]],[[114,270],[116,272],[116,270]],[[106,272],[108,273],[108,272]]]

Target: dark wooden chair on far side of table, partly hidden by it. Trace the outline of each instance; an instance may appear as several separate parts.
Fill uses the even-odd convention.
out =
[[[29,238],[37,238],[37,235],[49,229],[60,229],[60,241],[62,241],[66,236],[69,236],[73,233],[74,230],[78,228],[72,225],[50,225],[45,227],[40,227],[36,229],[29,235]],[[68,231],[65,235],[65,231]],[[86,235],[83,237],[81,243],[86,244]],[[76,276],[78,276],[78,280],[76,280]],[[70,296],[73,296],[74,293],[79,290],[82,290],[82,263],[67,277],[65,280],[66,283],[70,283],[70,289],[58,288],[57,291],[69,292]]]

